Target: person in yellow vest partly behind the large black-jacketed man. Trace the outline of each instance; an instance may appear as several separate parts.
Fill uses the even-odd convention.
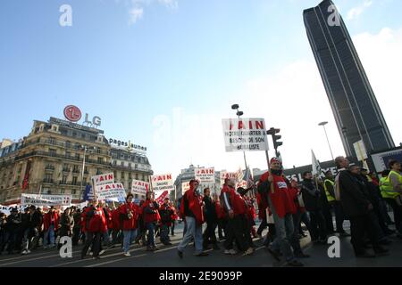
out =
[[[335,220],[337,224],[337,231],[341,236],[350,236],[348,232],[345,232],[343,229],[343,222],[345,221],[345,215],[343,214],[342,206],[339,201],[336,200],[335,197],[335,179],[332,175],[331,170],[325,173],[324,180],[324,190],[327,195],[328,203],[330,203],[331,208],[334,209],[335,212]]]

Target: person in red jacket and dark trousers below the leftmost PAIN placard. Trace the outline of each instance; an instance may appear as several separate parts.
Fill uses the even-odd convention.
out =
[[[106,216],[102,204],[99,205],[99,201],[93,202],[93,205],[85,209],[85,232],[86,239],[84,248],[81,251],[81,259],[87,256],[87,252],[90,246],[92,246],[93,258],[99,259],[99,253],[101,252],[101,238],[107,230]]]

